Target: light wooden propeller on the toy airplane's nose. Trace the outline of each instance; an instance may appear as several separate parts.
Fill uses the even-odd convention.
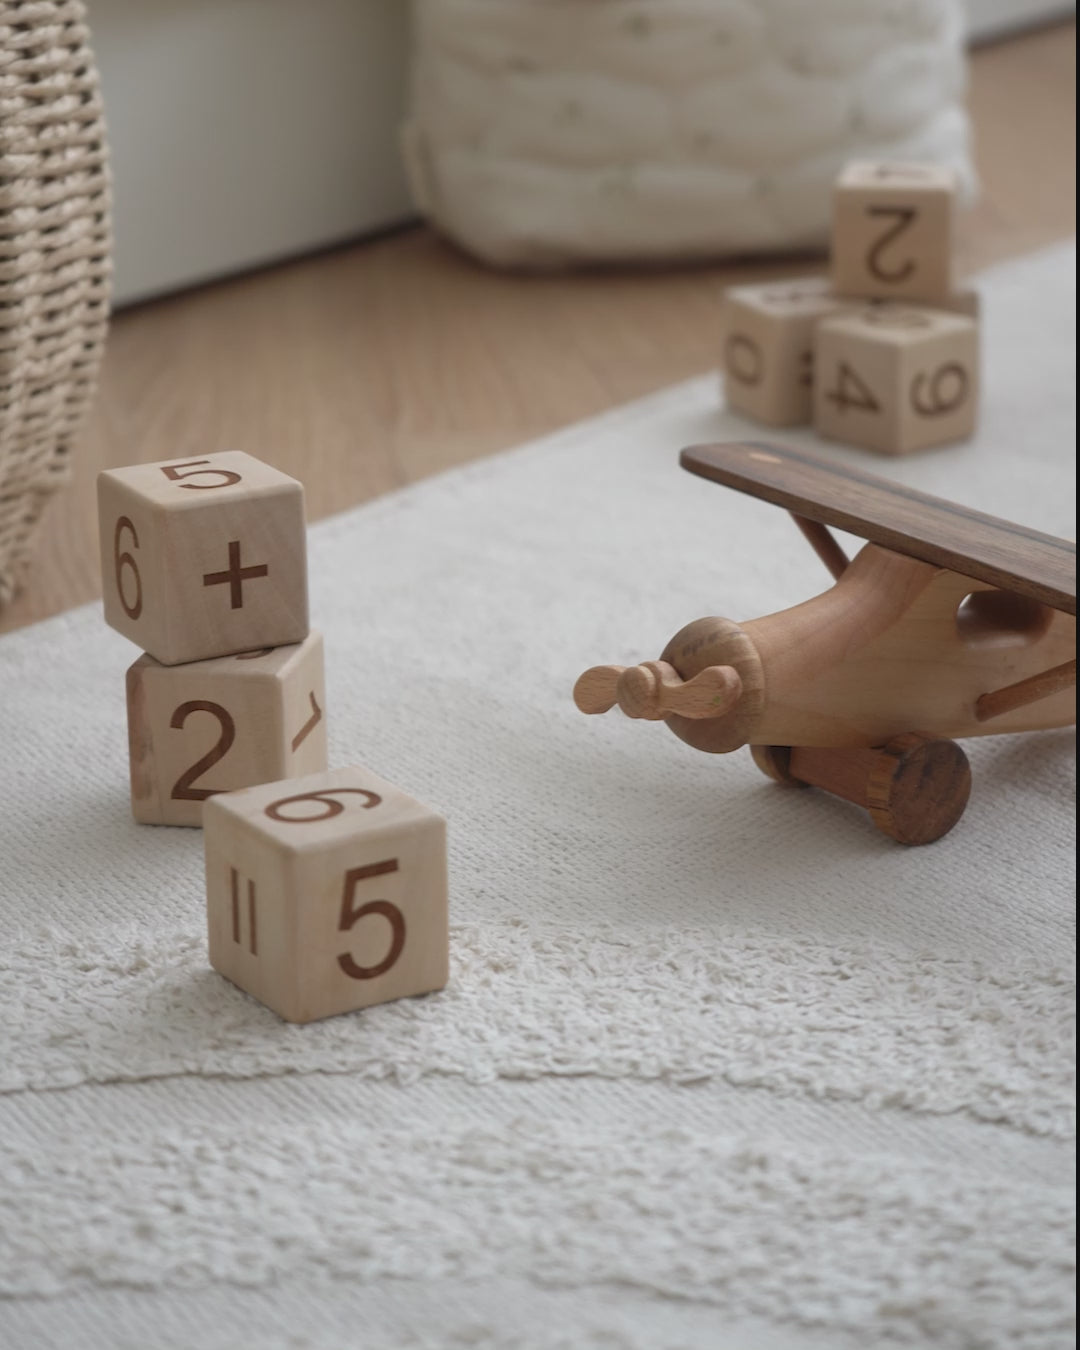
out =
[[[738,702],[742,680],[733,666],[709,666],[684,680],[667,662],[593,666],[574,686],[582,713],[606,713],[616,703],[626,717],[651,722],[678,717],[724,717]]]

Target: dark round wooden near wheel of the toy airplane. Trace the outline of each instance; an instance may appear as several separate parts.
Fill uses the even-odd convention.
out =
[[[933,844],[964,814],[971,795],[968,756],[949,740],[896,736],[873,752],[867,810],[900,844]]]

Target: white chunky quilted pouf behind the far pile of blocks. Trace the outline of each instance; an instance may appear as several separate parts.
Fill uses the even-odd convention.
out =
[[[850,158],[972,188],[959,0],[414,0],[420,208],[505,265],[819,247]]]

